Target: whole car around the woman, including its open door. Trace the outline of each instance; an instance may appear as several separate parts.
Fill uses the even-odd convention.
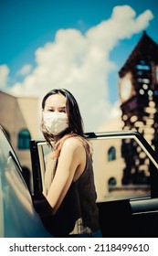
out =
[[[85,135],[94,150],[103,237],[157,237],[158,158],[153,148],[136,132]],[[43,190],[50,148],[45,141],[31,141],[30,152],[32,193],[16,154],[0,129],[1,237],[50,237],[32,203],[32,197],[39,198]]]

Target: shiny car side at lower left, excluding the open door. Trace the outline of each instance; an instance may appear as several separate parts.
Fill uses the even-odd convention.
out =
[[[0,128],[0,237],[51,237],[32,203],[22,167]]]

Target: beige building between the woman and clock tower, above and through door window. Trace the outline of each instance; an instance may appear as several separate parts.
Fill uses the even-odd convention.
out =
[[[121,131],[121,125],[121,117],[111,119],[100,127],[99,133]],[[113,183],[117,187],[121,187],[122,170],[124,168],[124,160],[121,157],[121,140],[93,140],[92,144],[98,201],[104,201],[111,198],[110,187]]]

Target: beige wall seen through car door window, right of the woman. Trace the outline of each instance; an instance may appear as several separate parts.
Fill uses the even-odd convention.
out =
[[[110,196],[110,181],[114,179],[121,187],[124,161],[121,158],[121,140],[97,140],[93,145],[93,168],[98,201],[105,201]],[[115,157],[109,160],[109,150],[115,150]]]

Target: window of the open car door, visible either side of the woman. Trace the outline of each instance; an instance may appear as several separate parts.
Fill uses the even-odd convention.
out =
[[[143,144],[134,133],[99,133],[89,140],[98,202],[151,196],[151,173],[157,172],[157,162],[149,144]],[[41,189],[50,151],[46,142],[37,144]]]

